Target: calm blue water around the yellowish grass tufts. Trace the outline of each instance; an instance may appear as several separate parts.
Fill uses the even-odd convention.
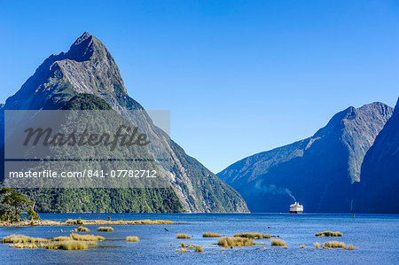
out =
[[[114,220],[164,219],[182,222],[174,225],[117,226],[113,232],[97,232],[97,226],[88,226],[90,234],[106,238],[98,246],[81,251],[46,249],[15,249],[0,244],[1,264],[10,263],[68,263],[68,264],[399,264],[399,215],[356,214],[41,214],[43,219],[68,218]],[[77,227],[77,226],[76,226]],[[0,237],[20,233],[32,237],[54,238],[67,233],[60,229],[74,227],[0,228]],[[268,228],[270,227],[270,228]],[[168,229],[168,231],[165,230]],[[323,243],[329,238],[316,238],[322,230],[343,233],[338,240],[359,247],[359,250],[315,249],[313,243]],[[269,239],[256,240],[266,243],[267,249],[258,246],[234,247],[221,251],[213,245],[217,238],[202,238],[203,232],[233,235],[237,232],[255,231],[279,235],[288,248],[270,246]],[[177,233],[192,235],[192,239],[176,239]],[[139,242],[128,243],[127,236],[137,236]],[[330,240],[333,240],[330,238]],[[203,253],[178,253],[180,242],[202,245]],[[170,243],[173,246],[170,246]],[[301,249],[299,245],[305,245]],[[308,248],[310,246],[310,248]]]

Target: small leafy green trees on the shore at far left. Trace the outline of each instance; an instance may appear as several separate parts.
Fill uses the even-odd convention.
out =
[[[4,222],[19,222],[22,212],[27,212],[28,219],[34,223],[39,220],[39,214],[36,214],[35,201],[27,199],[27,195],[21,194],[11,188],[2,188],[0,190],[0,219]]]

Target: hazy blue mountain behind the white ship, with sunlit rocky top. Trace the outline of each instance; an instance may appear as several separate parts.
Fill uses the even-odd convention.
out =
[[[218,176],[252,212],[286,212],[293,196],[306,212],[348,212],[364,154],[391,115],[382,103],[348,107],[314,136],[239,160]]]

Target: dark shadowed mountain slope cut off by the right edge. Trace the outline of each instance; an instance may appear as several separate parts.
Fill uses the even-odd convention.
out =
[[[356,212],[399,213],[399,99],[394,114],[364,156]]]

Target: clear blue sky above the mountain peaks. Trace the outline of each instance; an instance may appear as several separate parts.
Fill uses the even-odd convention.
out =
[[[399,1],[0,0],[0,102],[88,31],[215,173],[399,96]]]

